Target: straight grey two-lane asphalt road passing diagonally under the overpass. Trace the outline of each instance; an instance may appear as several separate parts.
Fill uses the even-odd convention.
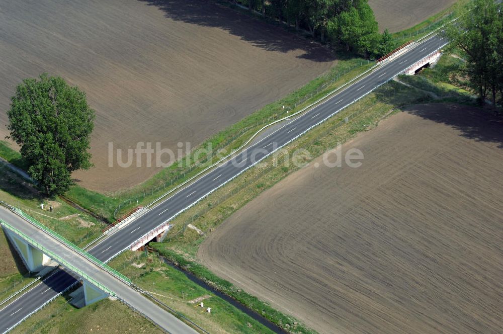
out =
[[[381,64],[369,75],[354,82],[325,102],[299,116],[259,142],[251,145],[243,151],[242,154],[239,154],[232,160],[222,163],[205,176],[145,212],[127,226],[111,233],[91,248],[89,253],[100,261],[110,261],[150,230],[173,219],[211,192],[222,187],[224,184],[250,168],[253,165],[252,157],[254,157],[255,163],[259,162],[261,159],[272,154],[275,150],[287,145],[311,128],[337,114],[350,104],[360,100],[409,66],[427,57],[429,54],[436,52],[446,44],[446,39],[438,35],[433,35],[429,39],[417,43],[399,57]],[[273,145],[273,143],[276,143],[276,145]],[[275,146],[277,147],[276,149],[273,148]],[[240,163],[234,165],[230,163],[231,161]],[[16,312],[19,305],[30,304],[32,308],[31,311],[29,309],[22,309],[19,311],[20,314],[17,315],[16,318],[23,318],[29,316],[30,312],[33,312],[36,308],[41,307],[44,303],[49,302],[55,298],[55,296],[61,294],[61,291],[65,289],[64,285],[73,283],[67,275],[68,274],[64,271],[54,274],[19,297],[15,303],[0,310],[0,328],[12,327],[16,323],[14,319],[4,314]],[[48,288],[50,288],[48,291],[49,293],[47,293],[44,298],[40,298],[40,293]],[[36,303],[33,302],[35,296],[37,296],[37,299],[35,299]],[[4,323],[4,321],[6,322]]]

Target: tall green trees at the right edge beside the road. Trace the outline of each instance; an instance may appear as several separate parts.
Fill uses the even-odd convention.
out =
[[[462,72],[478,92],[481,104],[490,95],[493,106],[503,103],[503,6],[474,0],[445,33],[466,59]],[[499,100],[499,101],[498,101]]]

